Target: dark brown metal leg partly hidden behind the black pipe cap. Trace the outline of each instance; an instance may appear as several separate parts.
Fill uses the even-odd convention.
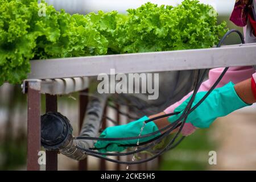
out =
[[[57,96],[46,94],[46,112],[57,111]],[[46,151],[46,171],[57,171],[58,169],[58,152]]]

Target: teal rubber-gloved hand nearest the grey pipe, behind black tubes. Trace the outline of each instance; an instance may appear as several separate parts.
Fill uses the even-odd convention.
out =
[[[147,116],[144,116],[137,121],[133,121],[128,123],[127,125],[119,125],[119,126],[112,126],[106,128],[100,135],[101,138],[125,138],[125,137],[138,137],[139,133],[141,132],[141,128],[143,126],[143,122],[149,119]],[[158,127],[155,125],[154,122],[149,122],[144,126],[142,131],[142,136],[146,134],[153,133],[158,131]],[[146,142],[152,138],[155,138],[160,135],[155,134],[150,137],[141,138],[139,139],[139,143]],[[117,141],[104,141],[98,140],[97,143],[94,144],[94,147],[99,148],[99,151],[106,152],[106,151],[118,151],[121,152],[126,149],[126,147],[119,146],[120,144],[137,144],[138,139],[133,140],[117,140]]]

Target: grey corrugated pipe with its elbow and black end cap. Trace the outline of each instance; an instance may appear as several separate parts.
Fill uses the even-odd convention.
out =
[[[90,96],[80,132],[80,137],[97,137],[101,126],[102,115],[106,104],[106,94]],[[93,140],[75,140],[72,126],[60,113],[46,113],[41,118],[41,142],[46,150],[57,150],[71,159],[82,160],[86,154],[77,149],[92,148]]]

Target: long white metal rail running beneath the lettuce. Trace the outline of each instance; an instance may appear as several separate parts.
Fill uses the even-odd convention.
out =
[[[221,48],[32,60],[28,78],[69,78],[100,73],[163,72],[256,65],[256,44]]]

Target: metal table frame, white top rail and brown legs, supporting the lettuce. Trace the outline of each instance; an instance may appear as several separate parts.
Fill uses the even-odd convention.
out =
[[[166,51],[132,53],[125,55],[73,57],[67,59],[32,60],[29,80],[25,81],[27,93],[27,169],[39,170],[40,151],[40,81],[35,79],[73,78],[97,76],[100,73],[141,73],[177,71],[186,69],[205,69],[256,65],[256,44],[241,44],[221,48],[194,49],[185,51]],[[81,92],[86,93],[87,90]],[[80,128],[84,118],[85,94],[79,98]],[[57,96],[46,94],[46,111],[57,111]],[[119,115],[117,114],[117,117]],[[118,119],[119,120],[119,119]],[[57,152],[47,152],[46,169],[57,170]],[[101,169],[106,169],[101,160]],[[79,169],[86,169],[86,159],[79,162]],[[119,167],[117,167],[119,169]]]

